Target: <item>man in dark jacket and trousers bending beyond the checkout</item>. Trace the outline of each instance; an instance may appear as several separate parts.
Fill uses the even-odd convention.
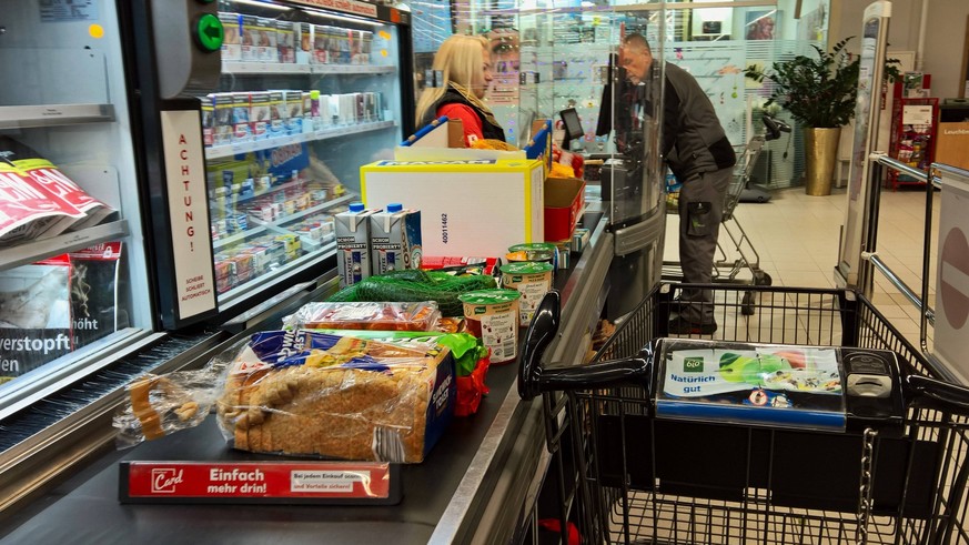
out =
[[[642,34],[629,34],[623,40],[622,64],[634,85],[655,83],[653,53]],[[724,200],[737,158],[710,99],[696,80],[676,64],[667,62],[664,69],[660,152],[683,184],[679,262],[684,282],[706,284],[713,281]],[[710,290],[684,290],[680,301],[680,313],[669,322],[669,333],[717,331]]]

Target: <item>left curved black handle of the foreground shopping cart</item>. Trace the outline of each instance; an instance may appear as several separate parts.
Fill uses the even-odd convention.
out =
[[[518,396],[531,400],[543,392],[587,390],[615,384],[648,385],[649,351],[647,345],[639,357],[613,360],[568,367],[543,367],[545,349],[558,334],[562,323],[562,296],[549,291],[542,299],[528,331],[518,365]]]

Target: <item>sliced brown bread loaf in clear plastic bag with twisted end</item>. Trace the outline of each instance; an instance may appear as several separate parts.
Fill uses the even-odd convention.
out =
[[[451,421],[456,390],[451,352],[436,342],[310,331],[254,334],[216,382],[219,426],[238,450],[401,463],[424,460]],[[163,422],[192,401],[203,408],[180,395],[189,388],[169,390],[158,388],[151,404]],[[196,393],[211,402],[204,390]]]

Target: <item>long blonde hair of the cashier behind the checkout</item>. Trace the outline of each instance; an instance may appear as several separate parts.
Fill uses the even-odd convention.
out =
[[[484,83],[482,75],[482,53],[487,51],[488,41],[483,36],[454,34],[444,40],[434,55],[433,70],[444,74],[441,87],[425,88],[417,100],[416,122],[420,125],[427,111],[444,97],[452,83],[472,91],[476,84]],[[472,91],[473,92],[473,91]]]

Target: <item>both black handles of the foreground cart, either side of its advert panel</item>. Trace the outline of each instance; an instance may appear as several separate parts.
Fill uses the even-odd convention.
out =
[[[619,384],[640,385],[648,391],[652,377],[653,345],[636,357],[608,360],[588,365],[549,366],[542,364],[545,350],[562,323],[562,297],[552,290],[542,299],[525,333],[518,367],[518,395],[531,400],[545,392],[593,390]],[[969,415],[969,388],[906,372],[901,376],[902,397],[910,406]]]

